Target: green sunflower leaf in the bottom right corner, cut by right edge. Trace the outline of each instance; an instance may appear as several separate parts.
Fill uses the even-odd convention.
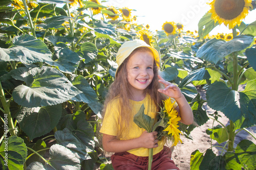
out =
[[[244,167],[256,169],[256,145],[252,141],[242,140],[238,143],[235,153]]]

